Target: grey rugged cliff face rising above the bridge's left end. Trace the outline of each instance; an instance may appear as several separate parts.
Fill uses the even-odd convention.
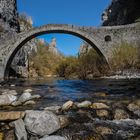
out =
[[[0,46],[19,32],[16,0],[0,0]]]

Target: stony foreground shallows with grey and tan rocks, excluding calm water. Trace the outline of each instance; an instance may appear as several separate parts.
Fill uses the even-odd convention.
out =
[[[140,99],[113,101],[108,94],[96,93],[96,101],[73,102],[46,106],[39,110],[26,110],[37,101],[32,90],[26,89],[19,96],[16,91],[7,90],[11,104],[22,101],[25,111],[0,112],[0,140],[110,140],[140,138]],[[11,97],[11,98],[10,98]],[[15,97],[15,98],[14,98]],[[0,98],[1,99],[1,98]],[[4,99],[4,98],[3,98]],[[12,101],[13,99],[13,101]],[[0,101],[1,107],[7,106]],[[2,105],[3,104],[3,105]],[[129,130],[129,131],[128,131]]]

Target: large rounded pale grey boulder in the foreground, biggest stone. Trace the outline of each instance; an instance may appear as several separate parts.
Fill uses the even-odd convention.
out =
[[[39,136],[52,134],[60,128],[58,117],[50,111],[26,111],[24,122],[28,131]]]

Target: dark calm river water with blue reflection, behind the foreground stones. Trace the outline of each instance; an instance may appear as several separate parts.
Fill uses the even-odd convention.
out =
[[[9,85],[14,84],[15,87]],[[106,99],[110,101],[135,100],[140,98],[140,79],[96,79],[96,80],[64,80],[49,78],[46,80],[14,80],[3,88],[16,90],[19,95],[25,89],[32,89],[33,94],[41,95],[34,106],[17,107],[16,109],[43,109],[47,106],[61,105],[68,100],[74,102]],[[106,97],[94,96],[104,92]],[[12,109],[12,108],[11,108]]]

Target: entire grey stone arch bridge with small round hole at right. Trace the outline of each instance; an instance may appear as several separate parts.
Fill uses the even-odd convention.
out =
[[[67,24],[49,24],[22,32],[0,45],[0,79],[9,75],[11,62],[17,51],[29,40],[48,33],[65,33],[77,36],[89,43],[108,62],[116,44],[122,41],[140,42],[140,23],[113,27],[86,27]]]

